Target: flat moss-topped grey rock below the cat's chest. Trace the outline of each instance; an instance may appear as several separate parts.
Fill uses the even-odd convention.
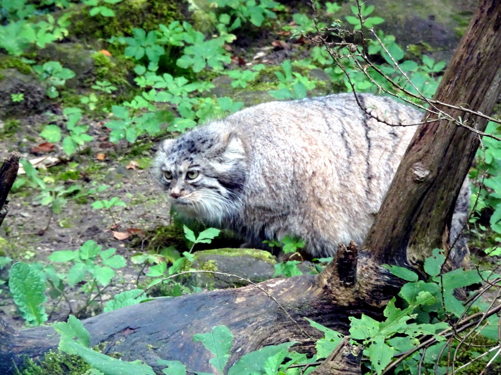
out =
[[[192,268],[230,273],[253,282],[273,277],[275,256],[265,250],[248,248],[222,248],[194,253]],[[210,273],[194,273],[186,284],[202,288],[229,288],[247,285],[248,282],[234,276]]]

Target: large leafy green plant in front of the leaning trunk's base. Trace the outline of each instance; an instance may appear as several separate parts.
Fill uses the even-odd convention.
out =
[[[399,370],[414,369],[411,373],[417,373],[418,362],[424,366],[434,365],[443,353],[441,348],[445,337],[438,333],[449,328],[449,324],[436,318],[443,319],[447,314],[463,316],[467,307],[454,297],[454,289],[481,279],[476,270],[459,268],[442,274],[444,261],[444,254],[434,249],[432,256],[424,262],[428,281],[420,280],[415,272],[407,268],[388,266],[394,275],[409,281],[398,294],[404,300],[404,307],[397,307],[397,300],[393,297],[383,311],[385,319],[382,321],[367,315],[350,317],[352,343],[364,345],[364,355],[369,358],[373,372],[382,373],[396,353],[414,348],[420,343],[418,338],[423,336],[432,336],[437,343],[426,349],[426,355],[417,352],[406,358],[397,367]],[[325,357],[339,343],[342,335],[313,321],[310,323],[325,332],[325,338],[319,340],[316,346],[319,356]]]

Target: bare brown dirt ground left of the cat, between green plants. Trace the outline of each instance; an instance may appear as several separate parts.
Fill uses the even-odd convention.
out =
[[[130,228],[148,232],[158,226],[169,224],[169,204],[164,192],[153,180],[148,167],[141,169],[130,166],[134,164],[131,164],[134,158],[128,156],[130,145],[119,144],[110,148],[109,144],[99,141],[100,138],[106,137],[107,129],[95,121],[89,122],[92,126],[91,135],[94,136],[95,140],[90,142],[90,149],[86,151],[87,155],[77,155],[67,161],[64,160],[64,152],[57,147],[49,152],[34,152],[33,147],[44,142],[43,138],[38,135],[41,130],[40,123],[44,122],[43,117],[22,119],[20,129],[15,135],[0,140],[2,160],[9,153],[9,150],[20,150],[22,158],[27,160],[41,156],[53,157],[59,159],[59,162],[49,166],[47,171],[41,171],[41,177],[57,180],[58,176],[67,169],[75,169],[78,172],[75,174],[79,176],[75,180],[70,179],[66,182],[55,181],[54,186],[80,184],[82,192],[103,184],[107,184],[109,187],[104,191],[80,199],[72,199],[75,195],[68,196],[66,206],[59,214],[51,214],[50,206],[42,205],[37,200],[40,189],[25,184],[12,192],[9,195],[10,211],[0,228],[0,236],[5,239],[2,245],[4,255],[29,263],[47,263],[47,257],[53,251],[75,250],[89,239],[95,240],[103,246],[103,249],[116,248],[116,253],[128,259],[128,263],[127,267],[117,270],[118,277],[115,278],[117,282],[105,290],[103,299],[106,301],[119,291],[135,288],[136,278],[140,271],[140,266],[132,264],[129,260],[132,254],[141,251],[140,240],[134,241],[137,244],[135,247],[131,246],[134,237],[137,238],[138,234],[131,235],[126,239],[117,239],[114,232],[127,235],[127,229]],[[146,140],[143,142],[146,144],[146,149],[139,157],[146,160],[146,158],[154,156],[155,150],[151,147],[154,148],[155,142]],[[106,148],[103,148],[103,145]],[[97,155],[100,153],[105,154],[105,159],[102,161],[97,159]],[[113,156],[111,156],[112,154]],[[75,165],[72,164],[74,162],[76,162]],[[69,165],[75,167],[71,168]],[[94,171],[87,172],[89,168],[93,168]],[[18,176],[18,178],[23,177],[26,175]],[[118,225],[114,225],[107,211],[93,209],[91,206],[95,200],[109,200],[115,196],[126,203],[126,207],[112,208]],[[120,236],[120,234],[116,235]],[[57,264],[55,265],[57,266]],[[64,271],[64,267],[61,268],[61,271]],[[2,279],[7,279],[6,270],[3,271]],[[77,287],[69,290],[68,297],[74,311],[78,310],[79,305],[87,298]],[[49,298],[48,313],[51,312],[55,302],[56,300]],[[97,312],[99,312],[99,306],[97,307]],[[50,316],[49,321],[65,319],[69,312],[68,302],[62,301]],[[92,311],[87,311],[86,314],[92,313]],[[23,326],[24,324],[16,310],[16,305],[9,297],[8,290],[4,290],[0,297],[0,316],[14,326]]]

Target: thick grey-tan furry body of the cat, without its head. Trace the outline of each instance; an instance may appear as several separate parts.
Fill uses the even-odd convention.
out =
[[[247,224],[266,221],[268,237],[294,233],[314,247],[363,239],[415,126],[378,122],[360,105],[394,125],[421,118],[390,98],[347,93],[264,103],[224,120],[249,154]]]

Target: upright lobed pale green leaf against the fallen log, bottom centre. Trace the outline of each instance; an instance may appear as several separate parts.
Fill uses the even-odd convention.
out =
[[[209,362],[222,374],[233,344],[233,335],[228,327],[225,325],[215,326],[211,332],[193,335],[193,341],[201,341],[203,346],[214,354],[214,358]]]

